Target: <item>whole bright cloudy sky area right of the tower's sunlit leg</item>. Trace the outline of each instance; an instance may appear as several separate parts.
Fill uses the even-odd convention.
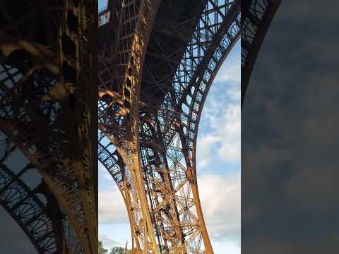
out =
[[[240,253],[240,69],[236,46],[210,89],[198,133],[198,188],[215,253]]]

